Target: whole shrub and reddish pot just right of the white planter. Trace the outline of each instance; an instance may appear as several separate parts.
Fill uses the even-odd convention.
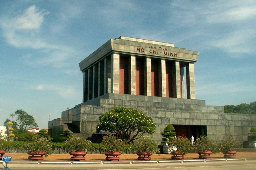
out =
[[[191,149],[191,142],[188,138],[183,136],[178,136],[177,138],[172,137],[167,140],[168,145],[174,145],[177,150],[172,151],[171,154],[173,155],[172,159],[184,159],[184,155],[187,154]]]

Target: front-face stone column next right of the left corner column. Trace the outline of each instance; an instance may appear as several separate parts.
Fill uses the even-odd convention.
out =
[[[136,57],[133,55],[129,64],[129,94],[136,95]]]

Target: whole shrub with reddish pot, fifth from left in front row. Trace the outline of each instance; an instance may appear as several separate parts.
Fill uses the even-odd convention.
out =
[[[155,138],[150,136],[140,136],[132,145],[132,152],[136,153],[139,157],[138,160],[151,160],[153,152],[159,153],[158,143]]]

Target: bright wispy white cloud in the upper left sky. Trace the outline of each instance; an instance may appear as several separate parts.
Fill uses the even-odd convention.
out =
[[[24,55],[22,61],[26,64],[63,67],[67,65],[68,59],[76,55],[76,52],[62,42],[54,43],[51,32],[41,33],[46,14],[49,12],[39,10],[32,5],[18,16],[3,17],[0,26],[3,28],[4,37],[12,46],[40,50],[32,51],[37,54],[36,56],[32,53]]]

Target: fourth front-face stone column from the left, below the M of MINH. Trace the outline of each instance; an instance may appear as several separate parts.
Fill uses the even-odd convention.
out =
[[[159,78],[160,78],[160,96],[166,97],[166,66],[165,66],[165,60],[161,59],[160,61],[160,72],[159,72]]]

